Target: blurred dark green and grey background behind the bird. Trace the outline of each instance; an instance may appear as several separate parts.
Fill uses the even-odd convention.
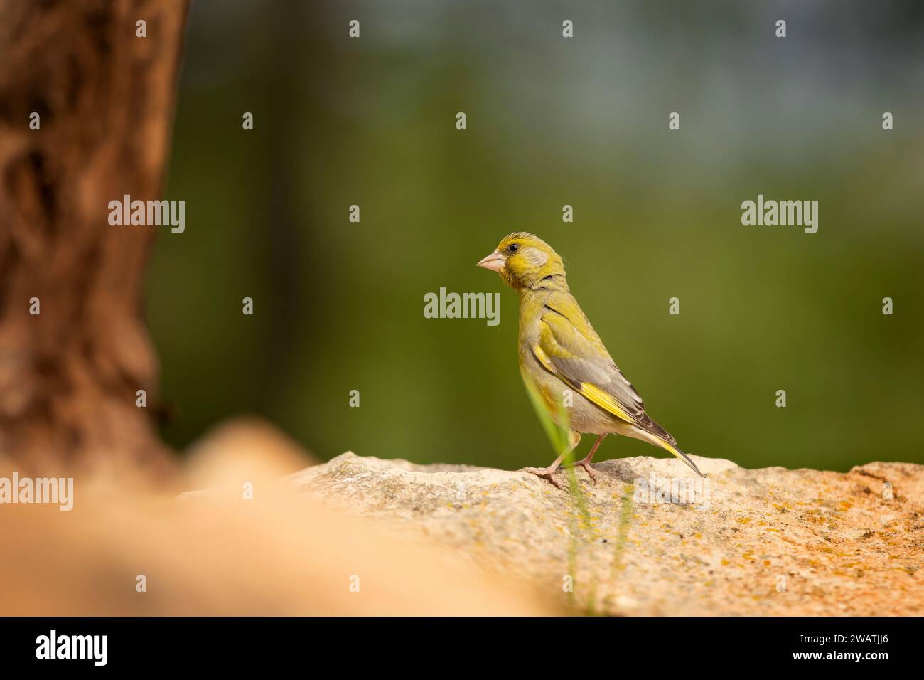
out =
[[[924,463],[922,124],[917,2],[194,2],[187,229],[148,285],[164,438],[258,413],[322,458],[548,464],[517,295],[475,267],[530,230],[686,451]],[[818,233],[742,226],[758,193],[818,200]],[[500,291],[500,325],[424,318],[441,286]]]

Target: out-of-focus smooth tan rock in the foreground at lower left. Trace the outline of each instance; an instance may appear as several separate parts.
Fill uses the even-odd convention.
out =
[[[177,498],[77,477],[70,512],[3,507],[0,615],[554,613],[448,550],[323,509],[281,481],[305,462],[271,427],[243,421],[196,446],[176,480],[213,490]]]

